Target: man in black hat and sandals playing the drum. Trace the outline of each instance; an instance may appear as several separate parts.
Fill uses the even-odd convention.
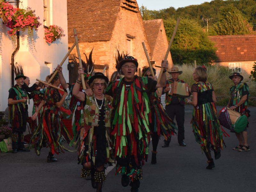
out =
[[[249,87],[246,83],[242,83],[244,77],[240,75],[240,73],[233,73],[233,75],[229,76],[229,78],[233,81],[234,86],[230,88],[230,100],[227,107],[230,107],[231,110],[235,110],[239,113],[245,114],[247,117],[250,116],[248,106],[248,96],[249,96]],[[247,123],[248,127],[249,122]],[[236,137],[239,141],[239,145],[234,150],[238,151],[250,151],[250,146],[247,141],[247,130],[244,129],[241,133],[236,133]]]

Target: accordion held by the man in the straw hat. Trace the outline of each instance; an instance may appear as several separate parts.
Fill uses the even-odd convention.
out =
[[[175,97],[188,97],[188,84],[187,83],[181,83],[178,81],[174,81],[174,83],[169,85],[170,91],[169,95],[175,96]]]

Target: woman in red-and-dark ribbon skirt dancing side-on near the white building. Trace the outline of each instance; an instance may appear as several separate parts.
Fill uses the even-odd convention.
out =
[[[51,76],[53,73],[51,74]],[[51,84],[54,86],[60,85],[59,76],[56,75],[51,81]],[[63,152],[63,149],[67,150],[61,143],[61,136],[69,143],[71,136],[60,120],[60,107],[63,104],[65,97],[68,95],[67,92],[64,92],[62,98],[58,89],[48,86],[44,94],[44,100],[41,101],[38,106],[38,110],[32,116],[32,120],[35,120],[40,109],[44,106],[44,111],[41,118],[41,123],[37,127],[32,140],[35,145],[36,154],[40,155],[41,146],[44,140],[47,140],[48,145],[51,148],[49,155],[47,156],[47,162],[57,162],[58,160],[54,157],[54,153],[59,154]],[[38,136],[38,142],[36,142],[36,136]]]

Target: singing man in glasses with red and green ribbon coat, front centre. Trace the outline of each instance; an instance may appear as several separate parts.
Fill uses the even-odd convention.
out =
[[[122,174],[121,183],[124,187],[131,181],[132,192],[139,191],[142,165],[144,159],[148,158],[151,118],[148,93],[165,86],[168,61],[163,60],[161,67],[164,73],[160,83],[157,83],[151,78],[135,75],[138,61],[132,56],[126,56],[118,66],[118,71],[122,69],[124,77],[110,84],[106,92],[113,96],[115,108],[112,135],[117,160],[116,172]]]

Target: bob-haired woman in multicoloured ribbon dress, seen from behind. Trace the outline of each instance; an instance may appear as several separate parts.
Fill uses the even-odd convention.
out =
[[[220,158],[220,149],[224,141],[222,140],[222,129],[218,119],[215,102],[216,97],[212,84],[207,81],[207,71],[205,67],[197,67],[193,73],[196,81],[191,87],[193,100],[187,99],[189,105],[193,105],[192,127],[196,137],[196,142],[201,145],[208,166],[206,169],[215,167],[210,148],[214,151],[215,159]]]

